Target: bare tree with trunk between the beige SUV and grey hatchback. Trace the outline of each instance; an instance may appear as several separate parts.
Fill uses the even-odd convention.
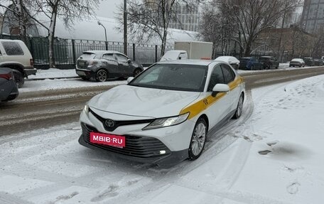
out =
[[[14,8],[0,4],[1,7],[11,11],[14,16],[20,19],[19,29],[23,36],[26,36],[26,22],[28,18],[43,26],[48,31],[48,56],[50,68],[55,68],[54,40],[56,21],[61,18],[67,28],[70,28],[75,21],[90,17],[93,9],[99,4],[99,0],[11,0]],[[26,8],[28,6],[28,8]],[[45,21],[39,20],[36,16],[45,16]],[[24,21],[28,19],[28,21]],[[50,22],[48,24],[48,22]]]

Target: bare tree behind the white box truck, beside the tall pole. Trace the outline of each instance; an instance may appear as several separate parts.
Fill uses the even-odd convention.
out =
[[[166,48],[168,28],[171,21],[178,21],[177,6],[180,3],[186,4],[187,9],[193,8],[192,2],[185,0],[127,0],[127,28],[129,34],[139,41],[148,41],[153,37],[161,40],[161,55]],[[117,16],[120,24],[124,23],[124,5],[119,6]],[[120,26],[122,27],[122,26]]]

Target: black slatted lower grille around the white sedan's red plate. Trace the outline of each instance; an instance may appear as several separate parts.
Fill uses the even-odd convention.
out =
[[[99,131],[97,131],[95,127],[91,127],[85,123],[81,123],[81,127],[82,127],[82,135],[85,141],[88,144],[92,146],[96,146],[100,149],[112,151],[118,154],[124,154],[127,156],[136,156],[139,158],[151,158],[151,157],[161,156],[160,155],[161,150],[166,151],[166,154],[163,154],[163,156],[166,156],[167,154],[171,153],[171,151],[161,141],[153,137],[147,137],[147,136],[124,135],[126,138],[126,144],[124,148],[118,148],[118,147],[108,146],[104,144],[93,144],[90,143],[90,132],[93,131],[99,133]]]

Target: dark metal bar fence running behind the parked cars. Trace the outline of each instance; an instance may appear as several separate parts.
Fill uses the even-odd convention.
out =
[[[0,38],[19,39],[19,36],[1,35]],[[27,38],[26,45],[33,55],[35,67],[48,68],[48,38],[30,37]],[[124,43],[55,38],[55,65],[61,69],[75,68],[77,58],[87,50],[114,50],[124,53]],[[173,47],[166,46],[167,50],[173,50]],[[131,60],[136,60],[144,66],[151,65],[160,60],[161,45],[127,43],[127,53]]]

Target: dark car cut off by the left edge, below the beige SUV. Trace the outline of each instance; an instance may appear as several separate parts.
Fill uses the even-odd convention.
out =
[[[13,70],[0,68],[0,102],[14,100],[18,97],[18,93]]]

